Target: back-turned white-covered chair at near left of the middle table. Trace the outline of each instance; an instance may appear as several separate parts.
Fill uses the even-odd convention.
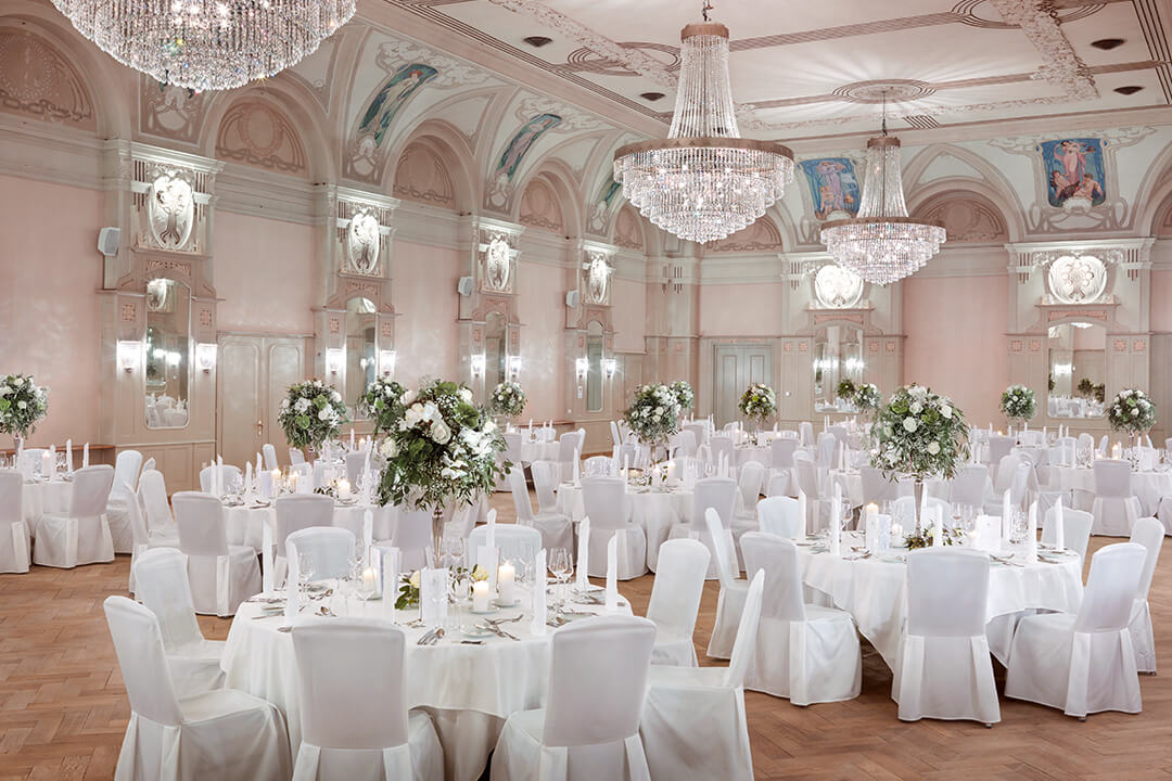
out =
[[[629,520],[626,485],[621,478],[582,480],[582,506],[590,519],[590,561],[587,575],[606,577],[606,549],[611,537],[619,554],[618,578],[627,581],[647,573],[647,535]]]

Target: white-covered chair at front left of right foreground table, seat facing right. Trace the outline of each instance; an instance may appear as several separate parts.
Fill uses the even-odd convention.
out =
[[[789,698],[793,705],[858,697],[863,657],[851,614],[805,604],[791,541],[750,532],[741,547],[748,571],[765,570],[756,653],[744,687]]]

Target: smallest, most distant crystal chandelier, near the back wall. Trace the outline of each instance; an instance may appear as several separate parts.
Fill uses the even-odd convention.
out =
[[[941,222],[907,215],[899,138],[870,139],[866,166],[858,217],[824,222],[822,242],[839,266],[868,282],[890,285],[922,268],[947,235]]]

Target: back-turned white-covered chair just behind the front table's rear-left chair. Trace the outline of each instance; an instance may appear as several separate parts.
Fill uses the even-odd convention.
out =
[[[188,556],[188,581],[196,612],[234,616],[241,602],[260,591],[257,553],[227,543],[224,506],[211,494],[180,491],[171,498],[179,527],[179,550]]]

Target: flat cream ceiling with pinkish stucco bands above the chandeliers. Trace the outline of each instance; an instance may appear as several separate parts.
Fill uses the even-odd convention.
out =
[[[665,131],[675,100],[680,28],[700,20],[700,2],[691,0],[382,2],[461,48],[492,50],[512,77],[547,85],[553,76],[571,100],[585,95],[615,116],[639,115],[643,128],[662,121]],[[870,133],[879,125],[884,93],[894,130],[1003,126],[1172,104],[1172,0],[715,0],[715,6],[711,19],[731,34],[732,93],[748,137]],[[548,42],[525,41],[533,36]],[[1122,42],[1095,46],[1103,39]],[[1132,87],[1140,89],[1117,91]]]

